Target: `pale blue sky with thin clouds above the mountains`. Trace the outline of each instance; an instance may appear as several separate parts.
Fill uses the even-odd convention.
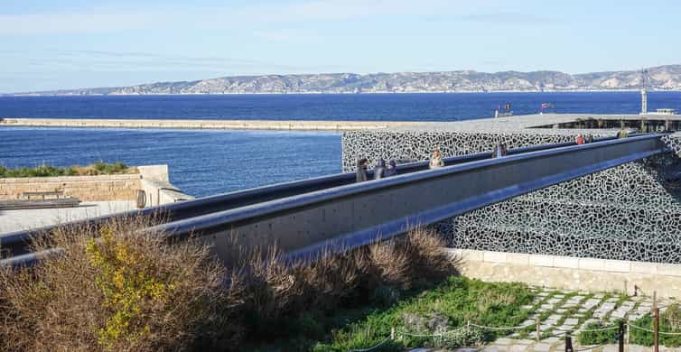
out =
[[[0,92],[681,63],[674,0],[0,0]]]

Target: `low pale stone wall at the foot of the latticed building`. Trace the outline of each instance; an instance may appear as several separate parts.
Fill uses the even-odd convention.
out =
[[[681,265],[558,255],[449,249],[462,274],[490,282],[528,283],[561,290],[681,297]]]

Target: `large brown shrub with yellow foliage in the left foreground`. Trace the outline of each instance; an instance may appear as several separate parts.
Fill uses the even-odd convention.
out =
[[[238,277],[224,289],[224,269],[205,246],[140,234],[149,221],[36,238],[36,250],[63,254],[0,273],[0,349],[177,350],[215,340],[228,325],[221,307],[238,305]]]

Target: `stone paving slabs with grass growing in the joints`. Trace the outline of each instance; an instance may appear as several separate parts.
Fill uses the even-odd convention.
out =
[[[605,325],[618,319],[638,320],[652,310],[651,297],[631,297],[615,293],[560,292],[550,289],[534,289],[536,298],[521,308],[531,311],[528,320],[520,325],[527,326],[525,331],[515,332],[506,338],[498,338],[487,346],[480,348],[459,348],[466,352],[482,350],[483,352],[555,352],[564,351],[564,335],[572,331],[574,336],[586,329],[591,323],[603,322]],[[660,311],[672,303],[669,300],[658,300]],[[539,320],[540,338],[536,339],[536,321]],[[600,347],[580,346],[579,339],[573,338],[574,350],[585,352],[617,352],[617,345]],[[425,349],[419,349],[424,351]],[[627,345],[625,351],[644,352],[651,347]],[[660,347],[664,352],[681,352],[681,347]]]

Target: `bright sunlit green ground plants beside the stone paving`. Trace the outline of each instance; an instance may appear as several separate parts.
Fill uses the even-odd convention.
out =
[[[462,347],[492,341],[504,331],[478,329],[518,326],[527,319],[522,305],[534,295],[520,283],[483,283],[451,276],[424,292],[406,297],[387,307],[374,307],[360,320],[333,331],[331,342],[316,350],[347,351],[377,345],[396,329],[396,339],[385,349],[405,347]],[[342,317],[340,312],[336,317]],[[352,311],[350,311],[350,316]],[[349,319],[352,320],[352,319]],[[437,337],[423,336],[441,334]],[[384,345],[386,346],[386,345]]]

